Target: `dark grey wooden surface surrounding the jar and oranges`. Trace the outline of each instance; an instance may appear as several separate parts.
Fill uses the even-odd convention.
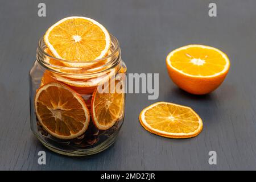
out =
[[[47,17],[37,15],[38,3]],[[217,17],[208,16],[210,2]],[[0,1],[0,169],[256,169],[256,1]],[[125,123],[117,142],[100,154],[71,158],[55,154],[30,131],[28,71],[38,39],[66,16],[88,16],[115,35],[129,73],[159,73],[159,99],[127,94]],[[206,96],[185,93],[168,77],[165,59],[187,44],[220,48],[230,58],[224,83]],[[192,139],[148,133],[139,112],[156,101],[191,106],[204,129]],[[38,164],[38,151],[47,165]],[[208,152],[217,152],[217,165]]]

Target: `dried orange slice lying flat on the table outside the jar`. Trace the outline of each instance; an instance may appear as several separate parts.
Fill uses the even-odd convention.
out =
[[[147,131],[167,138],[191,138],[203,129],[199,115],[190,107],[156,102],[141,111],[139,121]]]

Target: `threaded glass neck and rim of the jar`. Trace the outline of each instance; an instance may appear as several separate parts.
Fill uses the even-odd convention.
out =
[[[61,75],[86,77],[96,73],[103,73],[115,68],[121,61],[121,49],[118,40],[111,34],[110,38],[111,45],[108,56],[96,60],[70,61],[53,57],[46,52],[47,46],[42,37],[38,43],[36,60],[44,68]]]

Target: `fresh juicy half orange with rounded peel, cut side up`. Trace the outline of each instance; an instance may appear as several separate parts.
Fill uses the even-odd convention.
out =
[[[172,81],[192,94],[207,94],[218,88],[230,67],[224,52],[202,45],[175,49],[166,57],[166,65]]]

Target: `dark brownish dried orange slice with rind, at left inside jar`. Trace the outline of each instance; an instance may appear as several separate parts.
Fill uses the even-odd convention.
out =
[[[43,128],[60,139],[79,137],[90,121],[89,110],[82,97],[59,82],[49,82],[38,89],[35,110]]]

